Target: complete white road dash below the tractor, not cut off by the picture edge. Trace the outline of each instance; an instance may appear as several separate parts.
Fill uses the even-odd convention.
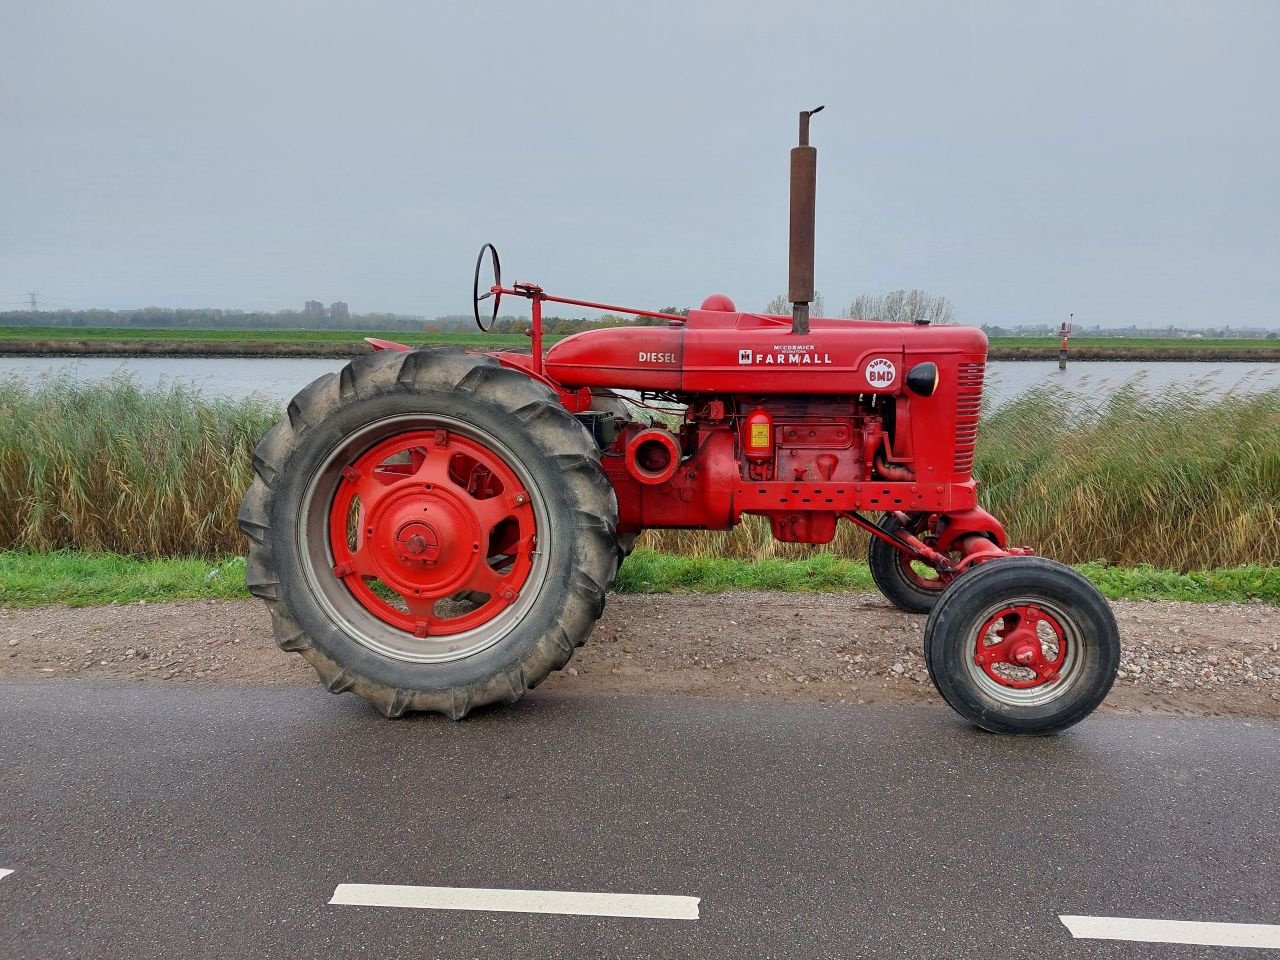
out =
[[[577,893],[556,890],[406,887],[394,883],[339,883],[330,904],[411,906],[426,910],[503,910],[579,916],[646,916],[696,920],[698,897],[653,893]]]

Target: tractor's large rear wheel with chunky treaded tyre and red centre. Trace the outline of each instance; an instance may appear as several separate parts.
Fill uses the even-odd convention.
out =
[[[303,389],[239,525],[276,643],[388,717],[513,701],[568,662],[617,571],[617,499],[541,384],[383,351]]]

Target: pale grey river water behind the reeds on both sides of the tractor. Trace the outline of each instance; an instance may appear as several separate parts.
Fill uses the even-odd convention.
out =
[[[321,374],[342,369],[344,360],[297,357],[0,357],[0,380],[28,384],[59,375],[93,381],[132,376],[147,387],[182,384],[205,397],[241,398],[257,394],[283,403]],[[1033,387],[1052,387],[1101,399],[1135,380],[1146,393],[1190,388],[1210,396],[1280,388],[1280,365],[1260,362],[1071,362],[995,361],[987,367],[986,393],[1004,403]]]

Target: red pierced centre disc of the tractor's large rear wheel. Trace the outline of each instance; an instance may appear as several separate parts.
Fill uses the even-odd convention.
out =
[[[371,614],[419,637],[474,630],[509,607],[536,535],[516,472],[443,429],[396,434],[362,453],[342,470],[329,509],[333,575]],[[458,594],[467,609],[442,607]]]

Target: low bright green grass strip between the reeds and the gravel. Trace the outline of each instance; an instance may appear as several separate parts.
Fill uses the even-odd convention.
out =
[[[1178,573],[1155,567],[1078,567],[1112,600],[1196,600],[1244,603],[1260,598],[1280,604],[1280,567],[1238,567]],[[675,557],[639,549],[618,572],[622,594],[783,590],[790,593],[872,591],[867,564],[833,554],[809,559],[749,563],[716,557]],[[0,552],[0,604],[160,603],[191,599],[244,599],[244,561],[192,558],[140,559],[114,553]]]

